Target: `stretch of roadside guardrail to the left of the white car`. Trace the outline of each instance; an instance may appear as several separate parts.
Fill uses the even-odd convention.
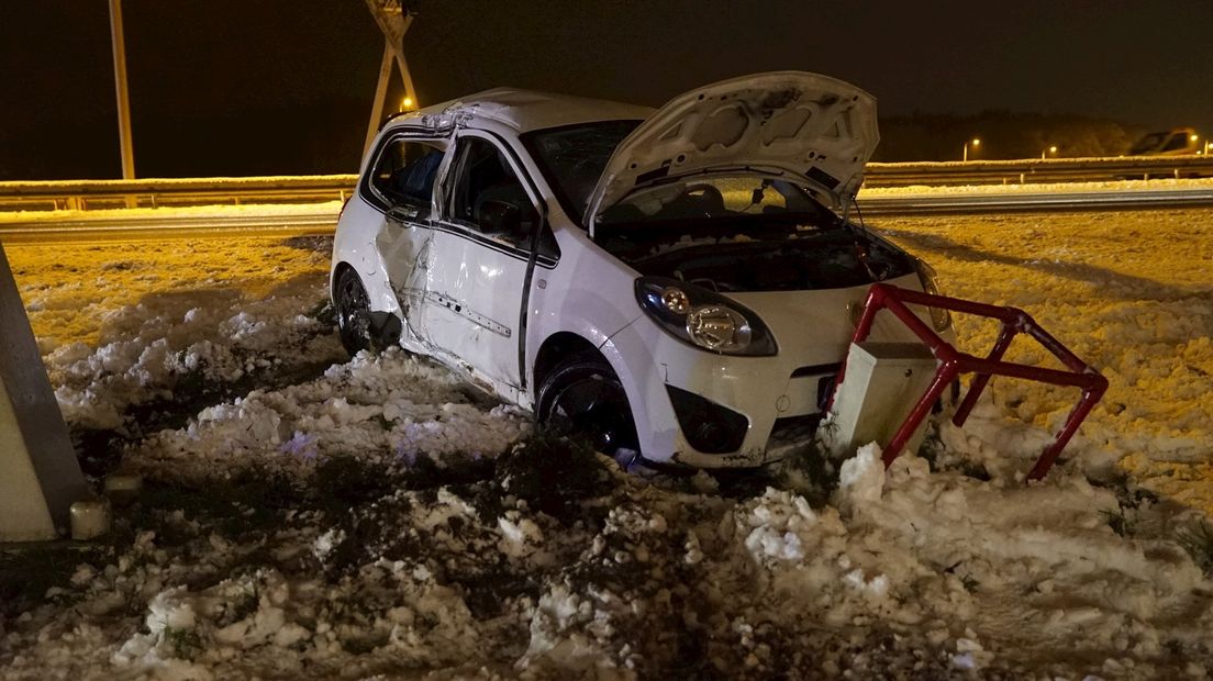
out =
[[[357,174],[0,182],[0,210],[61,211],[344,201]]]

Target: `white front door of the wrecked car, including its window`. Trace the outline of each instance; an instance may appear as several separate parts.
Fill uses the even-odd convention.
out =
[[[523,387],[522,309],[537,195],[513,153],[463,131],[433,223],[422,327],[431,351],[506,396]]]

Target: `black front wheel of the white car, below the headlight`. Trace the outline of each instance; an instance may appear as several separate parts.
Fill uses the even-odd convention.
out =
[[[623,384],[597,353],[562,361],[543,379],[535,419],[557,435],[585,439],[598,452],[639,453],[639,437]]]

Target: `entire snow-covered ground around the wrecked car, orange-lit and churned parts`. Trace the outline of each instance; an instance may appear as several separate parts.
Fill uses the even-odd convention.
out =
[[[1111,380],[1031,486],[1061,389],[995,379],[888,471],[639,477],[423,359],[347,361],[323,244],[13,246],[69,422],[146,490],[92,549],[0,554],[2,676],[1206,677],[1211,221],[872,225]]]

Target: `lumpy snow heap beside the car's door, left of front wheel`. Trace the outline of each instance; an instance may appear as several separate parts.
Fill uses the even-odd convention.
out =
[[[421,456],[495,456],[529,424],[517,407],[472,404],[449,371],[403,350],[361,353],[317,380],[207,407],[187,428],[149,436],[126,460],[148,475],[240,467],[306,475],[338,454],[409,465]]]

